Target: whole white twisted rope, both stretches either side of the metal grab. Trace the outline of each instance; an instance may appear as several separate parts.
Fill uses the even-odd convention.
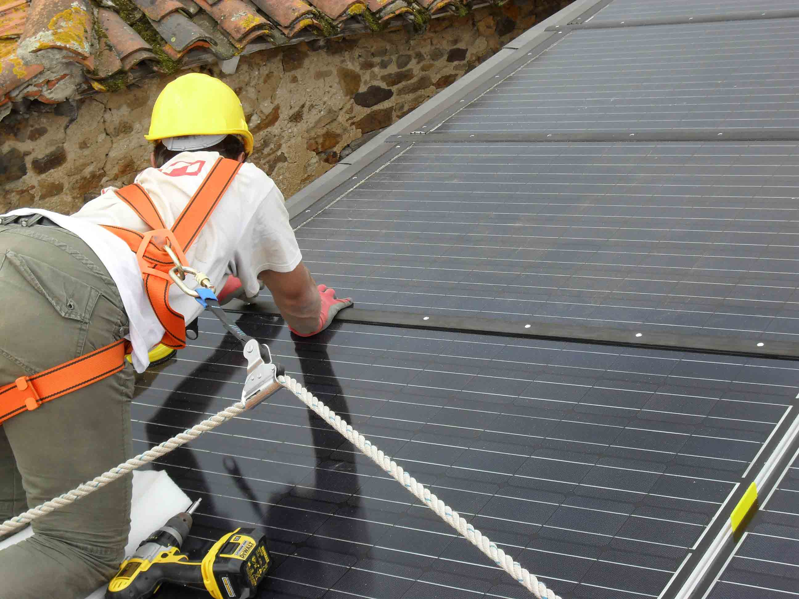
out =
[[[543,582],[539,581],[539,579],[527,571],[526,568],[519,565],[518,561],[514,561],[513,557],[505,553],[503,549],[499,549],[495,543],[491,542],[491,539],[480,533],[479,530],[471,526],[464,518],[461,518],[458,512],[452,510],[450,506],[447,506],[447,504],[437,498],[435,494],[432,494],[426,486],[411,477],[407,471],[403,470],[402,466],[397,466],[396,462],[392,461],[392,458],[379,450],[377,446],[365,438],[363,434],[353,429],[346,420],[342,420],[339,415],[336,415],[336,412],[325,406],[316,396],[297,383],[296,379],[281,376],[278,380],[288,391],[296,395],[302,403],[315,411],[317,415],[320,415],[320,417],[324,419],[324,422],[328,422],[330,426],[344,435],[344,438],[352,442],[354,446],[369,458],[372,458],[378,466],[388,474],[391,474],[392,478],[414,494],[416,498],[419,498],[419,501],[423,502],[425,506],[438,514],[444,522],[447,522],[447,524],[457,530],[459,534],[467,538],[472,545],[475,545],[475,547],[490,557],[496,565],[499,565],[499,567],[510,574],[515,581],[519,582],[525,589],[533,593],[537,599],[561,599],[552,589],[547,589],[547,585],[544,585]],[[160,458],[162,455],[169,454],[170,451],[177,449],[181,445],[185,445],[209,430],[213,430],[223,422],[227,422],[229,419],[240,415],[243,411],[243,402],[234,403],[232,406],[218,412],[211,418],[205,419],[199,424],[192,426],[192,428],[184,430],[181,434],[177,434],[173,438],[169,438],[165,442],[162,442],[160,445],[150,448],[143,454],[139,454],[135,458],[121,463],[116,468],[112,468],[97,478],[93,478],[93,480],[84,482],[69,493],[65,493],[60,497],[51,499],[49,502],[42,503],[40,506],[31,508],[25,513],[18,515],[16,518],[6,520],[6,522],[0,525],[0,537],[18,528],[22,528],[22,526],[25,526],[36,518],[40,518],[45,514],[50,514],[50,512],[78,501],[81,497],[93,493],[109,482],[125,476],[125,474],[144,466],[148,462],[153,462],[153,460]]]

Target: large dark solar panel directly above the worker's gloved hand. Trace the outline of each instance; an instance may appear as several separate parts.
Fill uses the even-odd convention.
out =
[[[416,144],[296,231],[359,307],[799,339],[797,143]]]

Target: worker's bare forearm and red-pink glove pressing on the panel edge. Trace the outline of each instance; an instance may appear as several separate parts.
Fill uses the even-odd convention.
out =
[[[263,271],[258,278],[272,292],[288,327],[303,337],[324,331],[342,308],[352,306],[352,300],[339,300],[333,289],[316,285],[302,262],[291,272]]]

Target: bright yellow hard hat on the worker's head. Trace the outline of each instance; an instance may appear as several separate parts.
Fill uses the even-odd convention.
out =
[[[252,133],[233,89],[203,73],[188,73],[167,84],[153,105],[148,141],[183,135],[240,135],[252,153]]]

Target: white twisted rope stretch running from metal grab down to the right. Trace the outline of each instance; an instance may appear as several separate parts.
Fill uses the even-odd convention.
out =
[[[525,589],[535,595],[537,599],[561,599],[552,589],[547,589],[547,585],[539,581],[533,574],[519,565],[518,561],[514,561],[513,557],[499,549],[491,539],[480,533],[479,530],[471,526],[464,518],[460,517],[458,512],[452,510],[450,506],[432,494],[426,486],[418,482],[415,478],[411,477],[402,466],[397,466],[396,462],[392,462],[392,458],[384,454],[372,442],[360,434],[357,430],[353,429],[346,420],[342,420],[336,412],[332,411],[329,407],[325,406],[319,399],[317,399],[308,389],[302,387],[296,382],[296,379],[291,377],[281,376],[278,378],[280,384],[286,387],[294,395],[296,395],[302,403],[311,408],[316,414],[320,415],[324,422],[335,428],[344,435],[349,442],[361,450],[364,454],[380,466],[383,470],[392,475],[392,478],[404,486],[408,491],[415,495],[419,501],[423,502],[425,506],[433,510],[439,517],[447,522],[452,528],[457,530],[459,534],[467,538],[472,545],[475,545],[480,551],[485,553],[496,565],[505,570],[508,574],[514,577],[515,581],[519,582]]]

